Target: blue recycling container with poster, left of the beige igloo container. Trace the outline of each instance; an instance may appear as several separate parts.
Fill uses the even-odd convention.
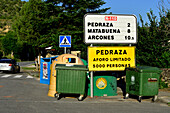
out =
[[[50,58],[41,58],[40,60],[40,83],[42,84],[50,84],[50,66],[58,56],[50,57]]]

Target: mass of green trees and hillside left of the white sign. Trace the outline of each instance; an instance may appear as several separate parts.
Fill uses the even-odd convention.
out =
[[[82,51],[86,59],[87,45],[83,42],[83,17],[86,13],[106,12],[109,8],[100,9],[103,4],[105,2],[102,0],[46,0],[45,2],[2,0],[1,19],[8,20],[8,23],[12,22],[12,29],[16,33],[16,36],[3,38],[3,50],[5,54],[9,54],[15,48],[15,57],[21,58],[21,52],[30,45],[35,48],[54,46],[58,50],[57,53],[61,54],[63,49],[58,47],[59,35],[71,35],[74,45],[71,49]],[[11,26],[8,23],[3,22],[4,25],[0,24],[0,27]],[[14,43],[16,46],[13,48]]]

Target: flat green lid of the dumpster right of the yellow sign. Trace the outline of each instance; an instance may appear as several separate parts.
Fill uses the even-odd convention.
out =
[[[162,70],[160,70],[157,67],[151,67],[151,66],[137,66],[136,68],[129,68],[130,70],[136,70],[138,72],[149,72],[149,73],[161,73]]]

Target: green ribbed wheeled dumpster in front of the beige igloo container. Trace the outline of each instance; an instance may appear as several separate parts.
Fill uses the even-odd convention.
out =
[[[60,94],[80,94],[82,100],[85,94],[87,68],[84,65],[56,64],[55,97]]]

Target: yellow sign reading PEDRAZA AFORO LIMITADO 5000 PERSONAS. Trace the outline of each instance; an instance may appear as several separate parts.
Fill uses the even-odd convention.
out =
[[[89,71],[118,71],[135,67],[135,47],[88,47]]]

